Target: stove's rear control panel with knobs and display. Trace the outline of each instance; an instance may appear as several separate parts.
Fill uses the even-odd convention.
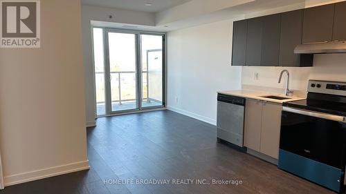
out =
[[[346,83],[337,81],[309,80],[308,92],[346,96]]]

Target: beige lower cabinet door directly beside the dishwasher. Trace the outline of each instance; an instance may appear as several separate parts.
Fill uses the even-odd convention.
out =
[[[262,101],[246,99],[244,146],[254,151],[260,151],[261,124],[262,124]]]

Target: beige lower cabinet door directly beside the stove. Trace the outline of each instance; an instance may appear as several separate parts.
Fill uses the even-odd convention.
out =
[[[260,152],[278,159],[281,127],[281,104],[263,103]]]

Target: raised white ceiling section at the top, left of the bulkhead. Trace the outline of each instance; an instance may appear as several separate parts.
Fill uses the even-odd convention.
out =
[[[190,0],[82,0],[82,5],[160,12],[188,1]],[[152,3],[152,6],[145,6],[145,3]]]

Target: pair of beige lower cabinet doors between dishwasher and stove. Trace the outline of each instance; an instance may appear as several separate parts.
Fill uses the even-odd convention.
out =
[[[244,146],[277,159],[281,110],[282,104],[246,99]]]

